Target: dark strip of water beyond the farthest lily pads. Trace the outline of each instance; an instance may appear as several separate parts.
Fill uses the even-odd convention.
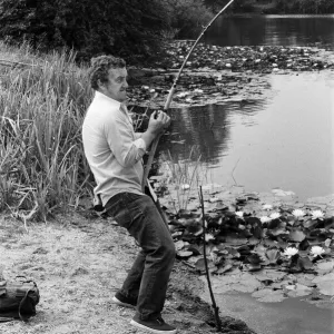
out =
[[[217,46],[322,46],[334,49],[334,14],[218,18],[204,37]]]

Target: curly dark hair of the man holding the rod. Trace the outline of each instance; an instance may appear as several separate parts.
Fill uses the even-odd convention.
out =
[[[114,56],[99,56],[90,60],[89,81],[92,89],[99,88],[98,80],[101,84],[108,82],[108,72],[111,68],[124,68],[126,62],[121,58]]]

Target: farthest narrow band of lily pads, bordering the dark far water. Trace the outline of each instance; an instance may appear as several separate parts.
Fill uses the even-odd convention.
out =
[[[178,41],[169,46],[169,66],[179,68],[193,46],[193,41]],[[315,59],[320,52],[316,48],[254,46],[254,47],[218,47],[199,43],[188,68],[214,68],[216,70],[230,69],[233,71],[252,70],[256,72],[272,72],[278,69],[321,70],[332,68],[333,63]]]

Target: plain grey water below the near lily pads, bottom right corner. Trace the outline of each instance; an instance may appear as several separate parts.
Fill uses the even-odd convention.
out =
[[[206,292],[202,297],[208,303]],[[220,314],[243,320],[257,334],[333,334],[334,310],[318,308],[303,298],[261,303],[249,294],[215,294]]]

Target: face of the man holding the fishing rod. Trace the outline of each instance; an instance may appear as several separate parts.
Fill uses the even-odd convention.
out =
[[[111,68],[109,69],[108,82],[100,85],[100,91],[106,96],[124,102],[127,99],[127,69],[124,68]]]

